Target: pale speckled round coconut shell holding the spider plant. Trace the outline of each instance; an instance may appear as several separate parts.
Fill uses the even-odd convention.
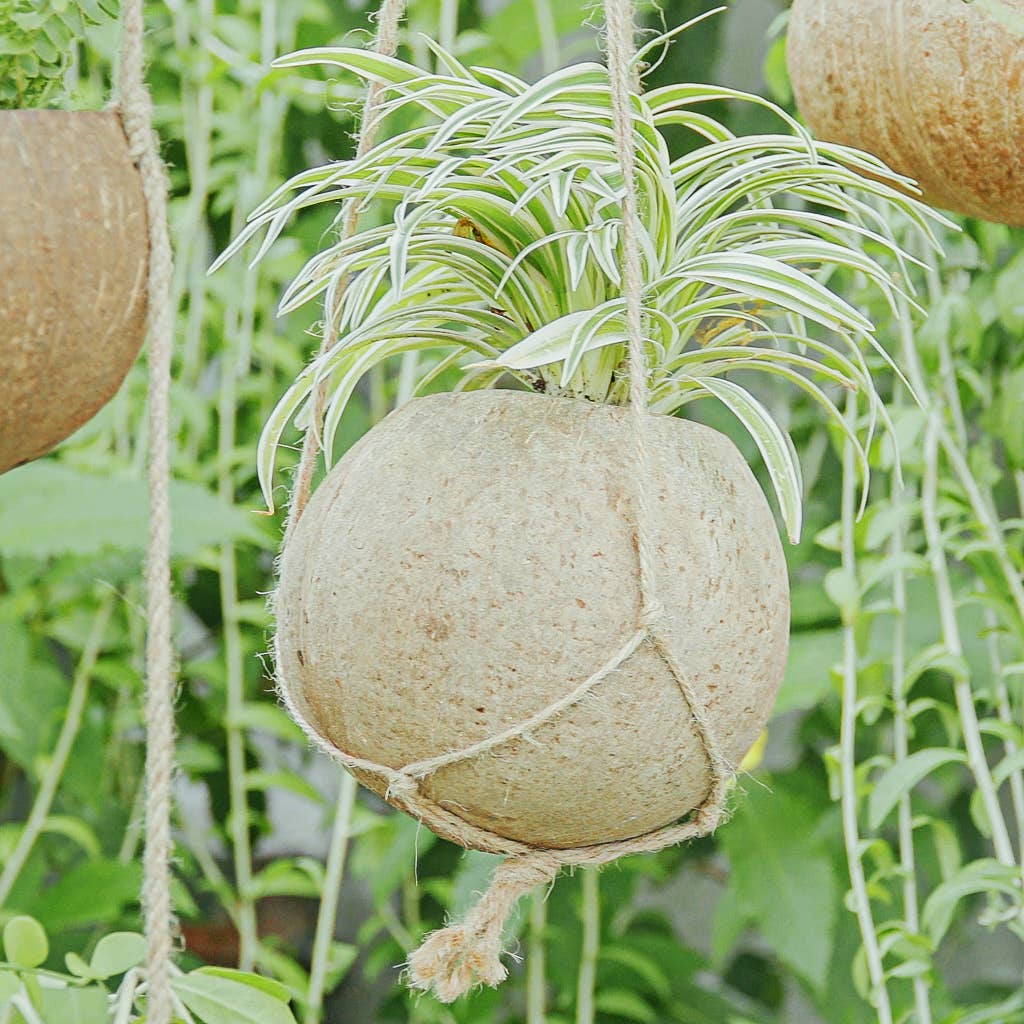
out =
[[[628,416],[443,394],[354,445],[281,565],[279,677],[304,724],[349,757],[402,768],[515,727],[608,662],[641,611]],[[738,765],[785,664],[781,545],[726,437],[651,417],[649,444],[664,639]],[[494,835],[570,848],[680,818],[706,800],[710,770],[679,684],[644,643],[554,719],[421,786]]]

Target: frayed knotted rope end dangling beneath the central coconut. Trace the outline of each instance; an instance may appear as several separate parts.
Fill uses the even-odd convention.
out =
[[[561,866],[557,854],[547,851],[502,861],[462,924],[428,935],[409,957],[411,986],[453,1002],[476,984],[500,985],[508,977],[502,933],[512,908],[531,889],[553,881]]]

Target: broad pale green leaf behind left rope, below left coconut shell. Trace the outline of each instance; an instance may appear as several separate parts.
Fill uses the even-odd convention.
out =
[[[0,476],[0,554],[49,558],[103,550],[145,550],[148,505],[144,480],[93,475],[52,460]],[[251,512],[221,502],[205,487],[171,484],[172,543],[179,556],[213,544],[272,541]]]

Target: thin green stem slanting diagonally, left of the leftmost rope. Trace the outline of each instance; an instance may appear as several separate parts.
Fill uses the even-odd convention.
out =
[[[53,798],[56,796],[60,779],[63,777],[65,768],[68,767],[68,758],[71,756],[75,739],[82,727],[82,716],[89,699],[89,689],[92,684],[92,672],[96,666],[96,658],[99,656],[111,611],[114,608],[114,596],[113,591],[103,594],[92,620],[92,628],[85,641],[85,647],[82,649],[82,656],[75,669],[71,695],[68,698],[68,711],[63,724],[60,726],[60,733],[53,748],[53,754],[39,784],[39,791],[35,801],[33,801],[25,827],[3,865],[2,873],[0,873],[0,907],[7,902],[7,897],[10,896],[10,891],[14,888],[18,876],[22,873],[22,868],[42,834],[46,819],[49,817],[50,808],[53,806]]]

